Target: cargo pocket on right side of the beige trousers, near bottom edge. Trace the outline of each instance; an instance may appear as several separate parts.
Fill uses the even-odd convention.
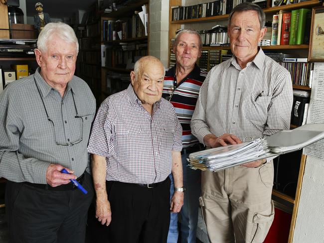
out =
[[[251,231],[250,243],[262,243],[264,242],[268,231],[272,225],[275,217],[275,208],[271,201],[271,209],[265,210],[253,215],[253,226]]]

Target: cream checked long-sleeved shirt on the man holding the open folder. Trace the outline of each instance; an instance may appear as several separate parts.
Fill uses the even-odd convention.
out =
[[[290,73],[262,49],[242,69],[233,56],[213,67],[203,83],[191,120],[192,133],[203,142],[213,133],[241,140],[289,129],[293,102]]]

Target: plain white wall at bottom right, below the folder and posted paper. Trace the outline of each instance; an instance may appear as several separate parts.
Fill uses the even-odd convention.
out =
[[[324,161],[307,157],[293,243],[324,242]]]

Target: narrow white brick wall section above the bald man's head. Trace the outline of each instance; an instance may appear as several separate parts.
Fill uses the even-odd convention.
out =
[[[150,55],[167,66],[169,0],[150,0]]]

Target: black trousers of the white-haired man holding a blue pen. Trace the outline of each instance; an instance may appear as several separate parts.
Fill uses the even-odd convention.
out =
[[[78,189],[49,191],[7,181],[6,217],[10,243],[84,243],[88,208],[94,196],[92,178],[85,172]]]

